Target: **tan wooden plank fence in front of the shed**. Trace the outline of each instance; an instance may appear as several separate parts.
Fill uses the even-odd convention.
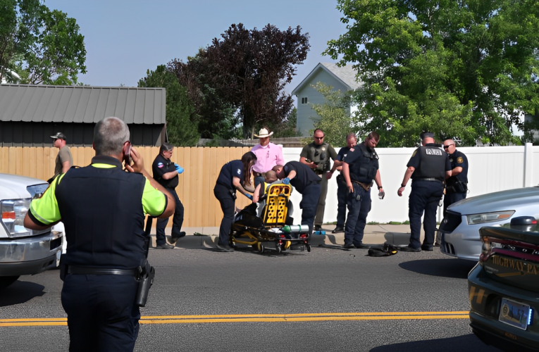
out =
[[[72,147],[73,164],[89,165],[94,150],[89,147]],[[159,154],[159,147],[137,147],[144,158],[144,168],[151,175],[151,163]],[[174,148],[171,160],[178,163],[184,172],[179,175],[176,192],[185,208],[185,227],[219,226],[223,213],[213,196],[213,187],[221,167],[228,161],[241,159],[249,147],[219,148]],[[0,172],[41,180],[54,175],[54,161],[58,149],[54,147],[2,147],[0,148]],[[242,208],[249,200],[238,194],[236,206]],[[172,226],[172,221],[168,222]]]

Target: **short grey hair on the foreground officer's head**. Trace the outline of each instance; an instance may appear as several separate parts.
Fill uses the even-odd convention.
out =
[[[96,155],[113,156],[122,152],[129,140],[129,127],[119,118],[104,118],[94,128]]]

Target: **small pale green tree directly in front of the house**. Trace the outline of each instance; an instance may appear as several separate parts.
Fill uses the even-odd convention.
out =
[[[334,147],[346,146],[346,136],[350,132],[355,132],[352,128],[350,118],[350,93],[342,94],[340,90],[335,91],[333,87],[323,82],[313,85],[318,93],[325,99],[323,104],[311,104],[317,117],[314,120],[314,127],[323,130],[325,134],[324,142],[330,143]],[[311,135],[314,130],[311,130]],[[308,139],[309,143],[312,142]]]

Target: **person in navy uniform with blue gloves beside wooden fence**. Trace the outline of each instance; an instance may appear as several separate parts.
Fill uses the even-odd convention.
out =
[[[183,225],[183,204],[176,193],[176,187],[178,187],[179,177],[183,172],[183,168],[171,161],[174,146],[172,144],[163,143],[159,148],[159,155],[155,158],[154,163],[151,165],[151,170],[154,174],[154,179],[165,187],[167,191],[172,194],[176,201],[176,208],[174,210],[174,216],[172,218],[172,234],[171,243],[176,243],[178,239],[185,236],[185,232],[182,231]],[[165,227],[168,224],[168,218],[157,219],[156,223],[156,249],[173,249],[174,246],[166,243]]]

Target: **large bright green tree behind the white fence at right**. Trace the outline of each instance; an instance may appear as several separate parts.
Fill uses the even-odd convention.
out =
[[[347,32],[329,54],[364,85],[359,132],[414,146],[422,130],[464,144],[519,143],[539,107],[536,0],[338,0]]]

